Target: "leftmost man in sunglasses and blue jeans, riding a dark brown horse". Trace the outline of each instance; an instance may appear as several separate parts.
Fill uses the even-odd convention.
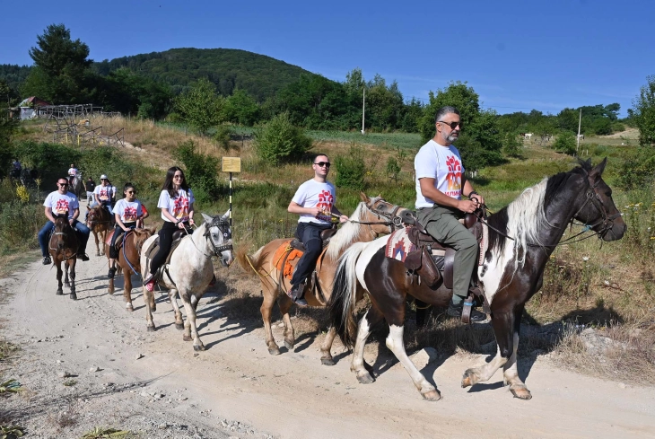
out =
[[[39,231],[39,246],[43,256],[43,265],[52,264],[48,252],[48,238],[55,226],[55,215],[68,215],[68,222],[74,228],[77,241],[80,242],[80,246],[77,248],[77,258],[89,260],[86,255],[86,242],[89,241],[90,231],[85,224],[77,221],[78,216],[80,216],[80,202],[74,193],[68,191],[67,179],[57,180],[57,190],[48,194],[43,206],[46,207],[46,217],[48,218],[48,222]]]

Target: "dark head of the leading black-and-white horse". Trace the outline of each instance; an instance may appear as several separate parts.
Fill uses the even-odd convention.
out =
[[[580,161],[580,164],[580,168],[576,168],[581,176],[581,190],[576,198],[579,206],[573,217],[598,233],[603,241],[620,240],[627,226],[614,204],[612,189],[602,179],[607,157],[593,168],[591,159]]]

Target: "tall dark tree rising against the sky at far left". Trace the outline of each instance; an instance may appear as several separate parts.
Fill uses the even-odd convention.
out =
[[[50,24],[37,36],[37,46],[30,49],[35,67],[23,92],[53,103],[82,101],[86,97],[84,75],[92,64],[89,47],[79,39],[71,40],[64,24]]]

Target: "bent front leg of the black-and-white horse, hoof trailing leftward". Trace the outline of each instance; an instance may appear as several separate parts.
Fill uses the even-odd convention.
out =
[[[498,343],[498,352],[492,361],[481,366],[467,369],[462,377],[462,387],[472,386],[489,380],[493,373],[507,364],[513,351],[514,313],[492,311],[493,333]]]

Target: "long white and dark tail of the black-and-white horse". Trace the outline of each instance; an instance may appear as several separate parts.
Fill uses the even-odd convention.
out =
[[[357,274],[355,266],[368,242],[356,242],[341,255],[336,267],[332,295],[327,303],[332,326],[345,347],[354,347],[357,337],[357,322],[354,319],[354,305],[357,295]]]

